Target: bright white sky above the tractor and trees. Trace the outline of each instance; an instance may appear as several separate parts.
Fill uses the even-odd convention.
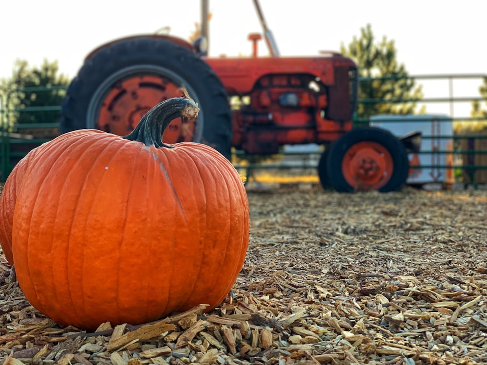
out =
[[[395,41],[398,60],[418,74],[487,74],[487,0],[261,0],[281,55],[317,55],[339,50],[360,28],[372,25],[377,40]],[[251,0],[209,0],[210,55],[248,55],[247,35],[261,27]],[[123,36],[153,33],[169,26],[187,38],[200,20],[200,0],[1,0],[0,77],[9,77],[15,59],[39,65],[58,60],[74,77],[83,58],[98,45]],[[264,43],[260,53],[266,54]],[[425,96],[448,96],[448,82],[423,82]],[[431,85],[430,85],[431,84]],[[481,80],[455,81],[455,96],[479,96]],[[446,108],[446,109],[445,109]],[[428,112],[449,108],[428,106]],[[465,113],[459,113],[466,110]],[[455,104],[455,116],[468,114]]]

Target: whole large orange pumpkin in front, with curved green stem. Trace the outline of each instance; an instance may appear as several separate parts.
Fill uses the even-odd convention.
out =
[[[161,140],[172,119],[198,110],[172,98],[129,136],[77,130],[30,157],[12,248],[19,285],[37,310],[95,329],[224,300],[248,245],[244,185],[215,149]]]

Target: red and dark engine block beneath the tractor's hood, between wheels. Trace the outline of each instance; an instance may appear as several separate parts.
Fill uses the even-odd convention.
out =
[[[325,87],[307,74],[272,74],[257,81],[249,102],[234,114],[233,146],[273,154],[284,144],[313,143],[316,118],[328,106]]]

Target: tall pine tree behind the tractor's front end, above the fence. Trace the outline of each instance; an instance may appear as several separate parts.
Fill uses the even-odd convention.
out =
[[[341,44],[344,56],[353,59],[359,70],[360,77],[366,78],[360,82],[359,99],[420,99],[423,97],[422,86],[415,86],[412,78],[408,76],[403,64],[396,58],[396,48],[393,40],[385,36],[381,41],[375,42],[372,27],[367,24],[360,29],[360,37],[354,37],[345,47]],[[369,78],[389,77],[389,79]],[[375,114],[411,114],[416,109],[415,102],[406,103],[372,103],[359,104],[358,118],[369,118]]]

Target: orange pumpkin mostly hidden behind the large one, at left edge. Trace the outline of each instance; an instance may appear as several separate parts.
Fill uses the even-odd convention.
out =
[[[17,193],[25,169],[29,166],[32,157],[39,148],[42,148],[42,146],[31,150],[25,158],[15,165],[3,186],[0,196],[0,244],[3,254],[10,265],[14,264],[14,257],[12,256],[12,224]]]

